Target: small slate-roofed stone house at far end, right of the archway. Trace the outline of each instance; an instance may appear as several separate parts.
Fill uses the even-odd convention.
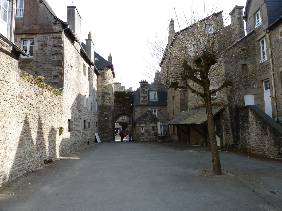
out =
[[[158,78],[157,76],[159,74],[160,73],[156,73],[155,79]],[[146,80],[141,80],[139,84],[140,87],[133,92],[133,95],[135,96],[135,101],[132,105],[134,140],[137,142],[156,141],[158,130],[160,134],[166,133],[165,128],[157,127],[156,122],[165,122],[167,120],[166,87],[159,84],[157,80],[154,80],[152,84],[148,84],[148,81]],[[152,119],[150,117],[151,114],[155,115],[156,118]],[[144,118],[149,118],[149,125],[144,126]],[[143,126],[140,126],[140,124]],[[145,138],[145,136],[148,135],[147,133],[151,134],[150,138]]]

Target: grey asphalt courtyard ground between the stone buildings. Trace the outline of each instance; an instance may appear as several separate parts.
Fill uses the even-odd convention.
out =
[[[231,173],[212,176],[209,147],[99,143],[2,188],[0,210],[282,210],[282,162],[220,157]]]

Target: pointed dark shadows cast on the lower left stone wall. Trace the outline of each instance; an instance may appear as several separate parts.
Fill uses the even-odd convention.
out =
[[[4,170],[4,176],[1,177],[0,186],[42,165],[45,159],[56,158],[56,129],[54,127],[49,129],[48,140],[46,140],[41,116],[37,118],[36,133],[31,129],[36,125],[34,121],[36,121],[35,118],[28,119],[26,115],[18,144],[16,141],[9,143],[10,146],[7,147],[6,152],[15,151],[15,153],[6,156],[9,162],[6,162],[4,167],[6,170]]]

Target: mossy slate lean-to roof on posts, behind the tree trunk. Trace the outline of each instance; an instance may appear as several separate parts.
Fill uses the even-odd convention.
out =
[[[219,113],[224,106],[212,107],[213,116]],[[206,108],[181,111],[162,125],[201,125],[207,121]]]

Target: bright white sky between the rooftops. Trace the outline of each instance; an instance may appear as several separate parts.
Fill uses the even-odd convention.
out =
[[[217,0],[47,0],[57,17],[67,21],[67,6],[76,6],[82,18],[81,41],[85,43],[88,33],[91,32],[95,51],[108,60],[112,54],[116,78],[114,82],[121,82],[125,89],[132,87],[136,90],[141,80],[153,82],[155,73],[147,62],[152,62],[149,48],[151,42],[158,40],[165,45],[168,42],[168,25],[174,20],[174,30],[187,27],[182,21],[184,15],[191,19],[192,10],[204,18],[204,13],[220,12],[223,10],[228,17],[235,5],[246,6],[246,0],[231,1]],[[177,18],[180,22],[180,28]],[[244,11],[244,10],[243,10]],[[230,24],[230,21],[227,22]],[[149,74],[148,74],[149,73]]]

